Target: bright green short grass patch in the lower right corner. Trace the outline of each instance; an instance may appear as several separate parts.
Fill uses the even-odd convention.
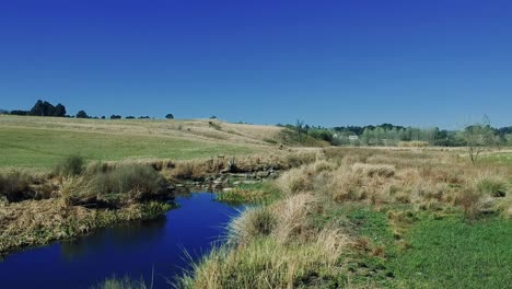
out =
[[[399,242],[385,211],[346,207],[357,232],[383,246],[386,257],[359,256],[354,270],[385,288],[509,288],[512,284],[512,220],[494,216],[468,221],[459,213],[417,213]],[[335,213],[336,216],[336,213]],[[362,274],[362,276],[365,276]],[[354,284],[369,280],[361,274]]]

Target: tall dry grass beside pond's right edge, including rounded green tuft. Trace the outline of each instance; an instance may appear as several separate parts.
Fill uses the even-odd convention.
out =
[[[176,287],[296,288],[337,280],[349,238],[334,226],[311,224],[317,209],[311,194],[248,209],[231,223],[228,246],[195,264]]]

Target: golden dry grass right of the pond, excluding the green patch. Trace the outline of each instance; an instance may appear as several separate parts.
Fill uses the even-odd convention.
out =
[[[434,217],[453,211],[468,218],[488,211],[512,217],[511,171],[505,166],[474,166],[454,152],[429,150],[326,149],[315,159],[284,172],[276,181],[282,199],[235,219],[229,245],[195,264],[179,286],[351,286],[352,273],[345,266],[349,256],[386,258],[387,253],[386,246],[353,235],[342,216],[322,222],[325,210],[337,211],[345,203],[387,208],[398,250],[408,247],[403,234],[424,210]],[[348,279],[340,281],[340,276]]]

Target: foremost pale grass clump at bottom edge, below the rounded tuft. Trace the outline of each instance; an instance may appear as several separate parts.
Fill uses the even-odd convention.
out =
[[[348,242],[345,234],[329,228],[309,242],[282,244],[264,238],[231,250],[221,247],[195,264],[176,288],[315,287],[317,279],[338,280]]]

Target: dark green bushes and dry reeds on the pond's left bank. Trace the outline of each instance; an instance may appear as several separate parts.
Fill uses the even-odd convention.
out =
[[[54,174],[0,174],[0,255],[75,238],[171,209],[166,181],[151,166],[85,164],[70,157]]]

